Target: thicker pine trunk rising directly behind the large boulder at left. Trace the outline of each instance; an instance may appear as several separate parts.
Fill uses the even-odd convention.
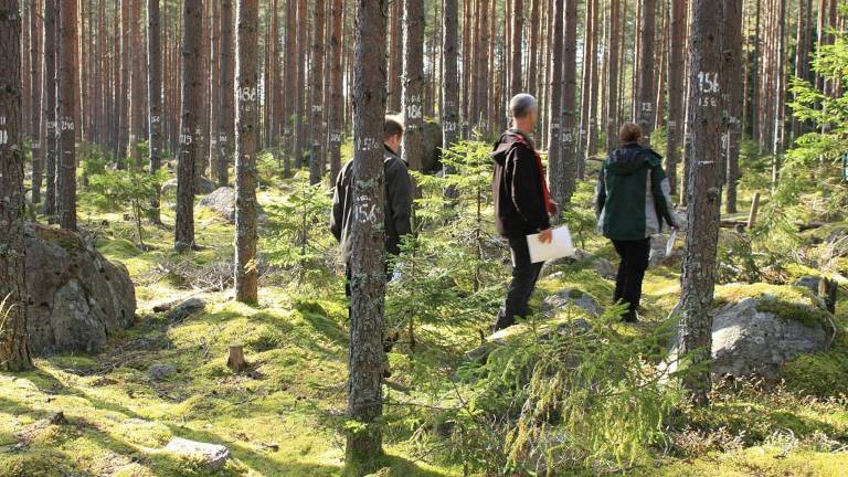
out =
[[[61,2],[59,9],[59,72],[56,88],[56,209],[59,225],[76,230],[76,2]]]

